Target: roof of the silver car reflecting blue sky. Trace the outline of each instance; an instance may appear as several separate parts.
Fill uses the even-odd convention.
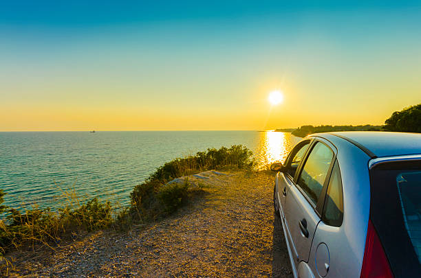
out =
[[[372,159],[376,157],[421,154],[421,133],[343,131],[316,133],[310,136],[322,137],[330,141],[349,141],[367,153]],[[336,145],[335,142],[332,143]]]

